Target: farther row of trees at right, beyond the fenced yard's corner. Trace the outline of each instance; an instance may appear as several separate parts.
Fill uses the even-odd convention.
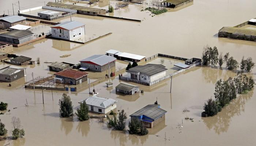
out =
[[[229,57],[229,53],[226,53],[223,56],[222,53],[219,54],[216,46],[213,48],[209,46],[204,47],[202,53],[202,65],[213,65],[215,67],[219,64],[219,66],[222,67],[224,63],[226,63],[226,69],[228,70],[237,69],[239,67],[238,62],[232,56]],[[251,72],[254,66],[255,63],[252,61],[251,57],[248,57],[247,59],[244,59],[244,57],[242,58],[240,63],[242,72]]]

